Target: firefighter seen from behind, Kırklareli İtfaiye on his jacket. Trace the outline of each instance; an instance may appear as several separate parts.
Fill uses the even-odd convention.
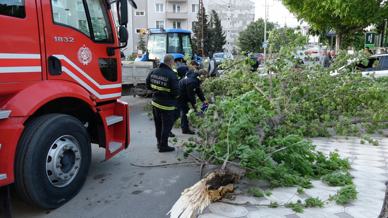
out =
[[[173,111],[180,94],[179,81],[171,69],[174,57],[166,54],[158,68],[149,72],[145,87],[152,91],[152,112],[154,114],[155,135],[159,152],[174,151],[168,146],[168,134],[173,127]]]

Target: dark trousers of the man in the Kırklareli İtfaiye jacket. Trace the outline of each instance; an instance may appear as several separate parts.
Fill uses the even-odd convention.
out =
[[[154,114],[155,136],[159,147],[168,146],[168,135],[173,127],[173,110],[165,111],[158,107],[152,106]]]

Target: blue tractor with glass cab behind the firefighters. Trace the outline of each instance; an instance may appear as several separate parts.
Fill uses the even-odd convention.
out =
[[[188,29],[147,29],[148,40],[144,54],[138,55],[135,61],[152,61],[154,67],[158,67],[165,54],[171,54],[175,58],[175,66],[185,64],[185,55],[189,54],[192,60],[196,60],[202,66],[203,59],[194,54],[196,44],[191,39],[191,31]],[[192,42],[193,41],[193,42]],[[195,46],[195,47],[194,47]]]

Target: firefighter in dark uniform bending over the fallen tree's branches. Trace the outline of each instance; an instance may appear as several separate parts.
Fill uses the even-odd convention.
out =
[[[194,131],[189,129],[189,119],[187,118],[186,114],[189,112],[190,108],[187,102],[191,103],[191,106],[195,109],[196,112],[198,112],[198,108],[196,106],[196,94],[199,97],[199,100],[203,102],[203,104],[208,104],[200,87],[202,81],[198,77],[201,75],[203,75],[204,79],[209,76],[208,72],[206,72],[204,69],[201,69],[198,72],[194,72],[194,68],[191,68],[189,71],[187,71],[186,76],[179,81],[180,96],[178,98],[177,106],[180,107],[179,109],[182,111],[180,125],[183,134],[195,134]],[[174,116],[174,122],[178,118],[179,116]]]

